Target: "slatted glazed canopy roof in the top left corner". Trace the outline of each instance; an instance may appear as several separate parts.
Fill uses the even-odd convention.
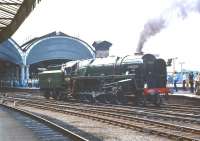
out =
[[[41,0],[0,0],[0,43],[12,36]]]

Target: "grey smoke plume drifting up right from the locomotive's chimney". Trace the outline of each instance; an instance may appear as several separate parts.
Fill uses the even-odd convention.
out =
[[[148,20],[140,34],[136,53],[141,54],[144,43],[151,36],[166,28],[172,17],[185,19],[190,12],[200,13],[200,0],[177,0],[172,3],[170,8],[161,13],[160,17]]]

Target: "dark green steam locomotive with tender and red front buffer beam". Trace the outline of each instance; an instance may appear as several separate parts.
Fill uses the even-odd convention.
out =
[[[152,54],[70,61],[39,73],[46,98],[160,105],[167,95],[163,59]]]

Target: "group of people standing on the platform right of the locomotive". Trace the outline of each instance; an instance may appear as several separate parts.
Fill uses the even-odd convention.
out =
[[[179,81],[179,78],[177,76],[177,73],[175,72],[174,75],[174,90],[177,92],[177,82]],[[200,84],[200,73],[197,73],[194,75],[193,72],[190,72],[189,74],[183,74],[182,76],[182,89],[186,91],[188,88],[190,89],[191,93],[194,93],[197,91],[198,86]]]

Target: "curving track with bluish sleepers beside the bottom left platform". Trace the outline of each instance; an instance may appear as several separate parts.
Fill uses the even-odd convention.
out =
[[[31,129],[41,141],[47,139],[48,141],[88,141],[87,139],[31,112],[16,107],[10,107],[5,104],[0,104],[0,106],[9,109],[9,112],[12,112],[11,114],[13,114],[17,120],[21,121],[25,127]]]

